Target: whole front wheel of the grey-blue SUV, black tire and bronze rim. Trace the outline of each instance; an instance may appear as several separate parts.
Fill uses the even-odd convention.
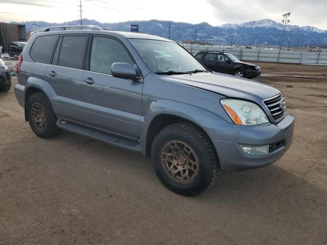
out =
[[[151,159],[159,180],[180,195],[202,193],[220,173],[213,143],[201,128],[187,122],[170,125],[156,135]]]

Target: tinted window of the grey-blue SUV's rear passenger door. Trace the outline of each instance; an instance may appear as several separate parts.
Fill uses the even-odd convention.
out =
[[[87,36],[64,36],[59,52],[58,65],[83,69]]]

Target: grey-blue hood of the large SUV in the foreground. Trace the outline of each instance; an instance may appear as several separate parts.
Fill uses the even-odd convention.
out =
[[[278,89],[272,86],[218,72],[202,72],[192,75],[185,74],[163,77],[170,81],[205,89],[225,95],[226,97],[236,97],[258,103],[280,93]]]

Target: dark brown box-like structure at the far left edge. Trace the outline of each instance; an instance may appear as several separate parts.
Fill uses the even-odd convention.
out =
[[[25,24],[8,24],[0,22],[0,46],[3,53],[8,52],[11,42],[26,42]]]

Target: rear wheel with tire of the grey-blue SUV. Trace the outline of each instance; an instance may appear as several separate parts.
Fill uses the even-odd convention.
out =
[[[27,117],[33,132],[41,138],[52,138],[61,133],[51,103],[42,92],[33,93],[27,102]]]

